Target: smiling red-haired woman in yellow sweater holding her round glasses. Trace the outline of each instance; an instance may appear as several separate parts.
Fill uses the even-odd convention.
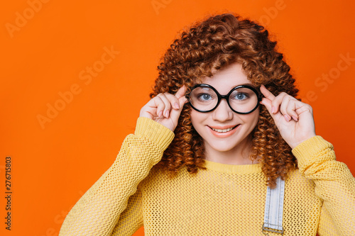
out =
[[[354,177],[275,45],[229,13],[183,32],[60,235],[355,235]]]

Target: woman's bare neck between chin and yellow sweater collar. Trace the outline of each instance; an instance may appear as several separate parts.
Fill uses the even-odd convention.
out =
[[[217,162],[221,164],[256,164],[257,160],[252,161],[250,159],[251,152],[251,140],[247,137],[243,142],[236,145],[231,150],[226,152],[219,152],[214,150],[208,144],[204,144],[205,159],[211,162]]]

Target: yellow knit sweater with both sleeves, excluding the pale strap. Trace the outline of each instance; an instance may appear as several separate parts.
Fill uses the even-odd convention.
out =
[[[114,164],[70,210],[67,235],[263,235],[266,179],[260,164],[206,161],[175,179],[153,166],[174,133],[138,118]],[[355,235],[355,179],[320,136],[295,147],[299,169],[285,181],[284,235]],[[278,235],[268,233],[268,235]]]

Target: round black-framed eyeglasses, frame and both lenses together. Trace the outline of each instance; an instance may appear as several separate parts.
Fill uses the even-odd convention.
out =
[[[200,112],[213,111],[222,99],[226,99],[235,113],[249,114],[259,106],[262,96],[249,85],[236,86],[228,94],[221,95],[209,84],[197,84],[192,87],[187,99],[190,106]]]

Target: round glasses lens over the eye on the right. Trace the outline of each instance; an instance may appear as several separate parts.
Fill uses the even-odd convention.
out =
[[[234,89],[229,96],[229,104],[234,111],[248,113],[258,105],[258,96],[248,88]]]

